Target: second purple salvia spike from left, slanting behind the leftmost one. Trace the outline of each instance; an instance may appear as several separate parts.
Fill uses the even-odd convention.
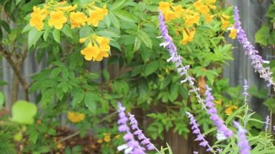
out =
[[[150,142],[149,138],[146,138],[144,136],[144,133],[142,133],[142,130],[140,130],[137,126],[137,120],[135,119],[135,116],[133,114],[128,113],[129,119],[130,119],[130,125],[135,132],[133,133],[135,136],[137,136],[138,140],[141,141],[141,144],[147,147],[148,150],[154,150],[155,146]]]

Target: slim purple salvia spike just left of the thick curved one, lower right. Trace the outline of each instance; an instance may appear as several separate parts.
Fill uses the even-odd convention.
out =
[[[197,134],[196,141],[200,142],[199,145],[203,147],[207,147],[206,151],[214,152],[214,150],[211,148],[211,146],[208,144],[208,142],[204,139],[203,134],[201,134],[201,131],[199,130],[199,125],[197,125],[197,122],[192,114],[189,112],[186,112],[188,115],[188,118],[190,119],[190,125],[192,126],[192,132]]]

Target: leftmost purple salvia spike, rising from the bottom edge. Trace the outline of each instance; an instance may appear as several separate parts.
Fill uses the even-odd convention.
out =
[[[131,133],[130,128],[127,125],[127,121],[129,119],[124,111],[125,107],[123,107],[121,103],[118,103],[118,131],[126,132],[123,136],[123,140],[126,141],[126,144],[118,146],[118,151],[124,151],[124,153],[131,154],[146,154],[144,153],[145,149],[140,146],[140,143],[135,141],[135,139],[133,138],[133,134]]]

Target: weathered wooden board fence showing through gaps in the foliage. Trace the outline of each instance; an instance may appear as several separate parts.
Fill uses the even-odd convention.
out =
[[[269,0],[227,0],[225,1],[226,6],[237,5],[240,10],[241,21],[243,23],[243,28],[247,31],[249,40],[254,42],[254,34],[261,27],[261,23],[265,21],[264,14],[270,4]],[[232,86],[242,85],[244,79],[248,79],[249,84],[256,84],[261,88],[265,87],[265,82],[262,79],[259,79],[259,75],[254,73],[254,69],[250,65],[250,61],[248,57],[244,54],[243,48],[239,45],[236,40],[228,40],[234,44],[235,49],[232,51],[234,55],[234,61],[230,62],[230,66],[225,66],[223,71],[223,77],[229,78],[230,84]],[[257,49],[259,49],[260,53],[263,55],[264,59],[267,59],[267,55],[272,55],[271,51],[268,49],[262,49],[258,45],[256,45]],[[1,62],[1,66],[3,67],[3,77],[1,77],[5,81],[9,81],[12,83],[14,81],[14,75],[12,72],[12,68],[3,60]],[[107,61],[104,60],[101,63],[91,63],[91,70],[102,70],[102,68],[107,68]],[[30,82],[30,75],[36,73],[37,71],[45,68],[45,62],[41,64],[37,64],[35,53],[28,53],[23,66],[21,67],[21,74],[23,77]],[[120,75],[120,71],[118,66],[111,66],[108,68],[111,77],[118,77]],[[5,93],[6,96],[6,108],[10,110],[12,105],[12,84],[8,86],[3,86],[0,89]],[[20,87],[19,99],[23,99],[23,88]],[[34,96],[30,97],[30,101],[34,101]],[[263,101],[259,99],[252,98],[250,101],[250,106],[252,109],[261,116],[265,116],[267,113],[267,108],[263,105]],[[143,116],[142,114],[140,116]],[[65,118],[61,117],[62,123],[65,125]],[[146,123],[146,119],[143,120]],[[144,124],[145,125],[145,124]],[[198,144],[194,142],[194,137],[192,134],[188,135],[188,140],[185,140],[182,136],[178,136],[173,133],[173,131],[164,132],[165,140],[159,141],[161,144],[165,144],[168,142],[170,146],[173,148],[174,154],[192,154],[192,151],[199,151],[199,153],[206,153],[204,149],[200,149]],[[211,139],[210,139],[211,140]]]

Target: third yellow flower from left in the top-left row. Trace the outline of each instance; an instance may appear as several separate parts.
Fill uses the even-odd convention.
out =
[[[72,12],[69,15],[69,19],[72,23],[71,28],[73,29],[74,27],[82,27],[85,25],[85,21],[87,20],[87,16],[83,12]]]

